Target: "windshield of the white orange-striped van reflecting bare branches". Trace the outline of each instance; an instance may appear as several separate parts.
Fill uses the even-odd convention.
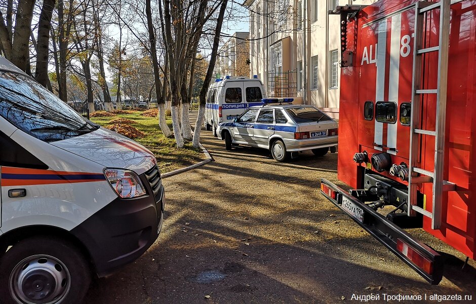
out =
[[[97,130],[42,85],[22,74],[0,71],[0,115],[43,141],[58,141]]]

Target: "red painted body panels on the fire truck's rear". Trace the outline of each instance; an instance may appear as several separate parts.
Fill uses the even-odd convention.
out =
[[[341,104],[339,121],[339,156],[338,178],[347,184],[359,186],[358,179],[366,164],[352,162],[356,152],[367,150],[369,157],[380,153],[374,143],[381,140],[384,145],[391,145],[396,133],[395,155],[392,162],[408,164],[410,127],[400,121],[396,126],[384,124],[379,126],[375,120],[364,119],[366,101],[394,101],[400,105],[411,100],[413,67],[413,34],[415,9],[408,9],[415,0],[381,0],[359,13],[354,67],[342,68]],[[443,224],[441,230],[431,230],[431,219],[424,219],[424,230],[440,238],[462,253],[474,258],[476,245],[476,1],[466,0],[452,5],[450,29],[450,58],[448,74],[448,108],[445,142],[444,179],[456,183],[456,191],[444,193]],[[439,41],[439,11],[427,14],[425,24],[425,46],[437,46]],[[400,25],[400,30],[394,26]],[[385,32],[382,34],[382,30]],[[393,39],[392,39],[393,35]],[[400,56],[395,55],[397,36],[400,35]],[[354,37],[352,37],[354,39]],[[380,45],[376,47],[377,44]],[[382,49],[384,44],[385,49]],[[406,46],[410,48],[407,52]],[[370,48],[372,47],[372,51]],[[379,49],[384,66],[378,70],[378,58],[375,49]],[[384,57],[384,58],[383,58]],[[395,69],[398,67],[398,73]],[[424,89],[435,89],[438,77],[438,53],[424,56]],[[383,78],[383,82],[382,82]],[[398,80],[397,80],[398,79]],[[379,82],[380,80],[380,82]],[[396,90],[396,91],[395,91]],[[395,95],[395,92],[396,95]],[[429,94],[422,99],[422,128],[434,130],[436,96]],[[396,131],[395,131],[396,130]],[[381,134],[380,134],[381,133]],[[379,135],[379,136],[376,136]],[[389,135],[390,134],[390,135]],[[473,139],[474,138],[474,139]],[[422,135],[421,167],[428,171],[434,168],[434,137]],[[389,178],[387,172],[381,173]],[[406,184],[404,182],[404,184]],[[421,189],[426,195],[424,208],[431,212],[431,184]]]

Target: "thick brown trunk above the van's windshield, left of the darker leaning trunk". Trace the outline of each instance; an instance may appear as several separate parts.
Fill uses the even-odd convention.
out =
[[[35,0],[20,1],[15,17],[15,29],[12,44],[11,61],[22,71],[27,70],[27,64],[30,58],[29,42],[34,4]]]

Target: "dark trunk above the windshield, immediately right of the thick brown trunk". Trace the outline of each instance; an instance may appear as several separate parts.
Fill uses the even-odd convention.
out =
[[[48,88],[48,57],[50,46],[51,16],[56,0],[44,0],[42,13],[39,15],[38,38],[36,44],[35,79],[42,86]],[[50,85],[51,86],[51,85]]]

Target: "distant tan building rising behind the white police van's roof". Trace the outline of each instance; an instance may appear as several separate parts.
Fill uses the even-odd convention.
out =
[[[214,75],[217,78],[250,74],[249,32],[235,32],[218,50]]]

